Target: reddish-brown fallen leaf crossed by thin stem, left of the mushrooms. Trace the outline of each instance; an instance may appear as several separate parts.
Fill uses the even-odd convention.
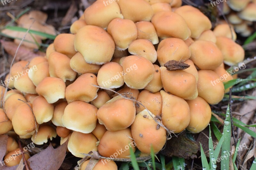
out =
[[[11,42],[11,41],[4,41],[4,40],[0,40],[0,42],[4,46],[4,50],[8,54],[10,54],[12,56],[15,55],[16,50],[18,48],[17,44],[15,44],[14,42]],[[20,46],[15,60],[16,61],[20,61],[20,60],[30,61],[32,58],[34,58],[36,56],[45,56],[45,53],[43,53],[41,51],[34,52],[33,49],[31,49],[31,48]]]

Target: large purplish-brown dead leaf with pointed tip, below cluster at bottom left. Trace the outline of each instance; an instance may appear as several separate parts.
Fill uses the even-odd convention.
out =
[[[57,149],[50,144],[45,150],[29,158],[28,166],[33,170],[58,170],[65,159],[67,148],[67,141]]]

